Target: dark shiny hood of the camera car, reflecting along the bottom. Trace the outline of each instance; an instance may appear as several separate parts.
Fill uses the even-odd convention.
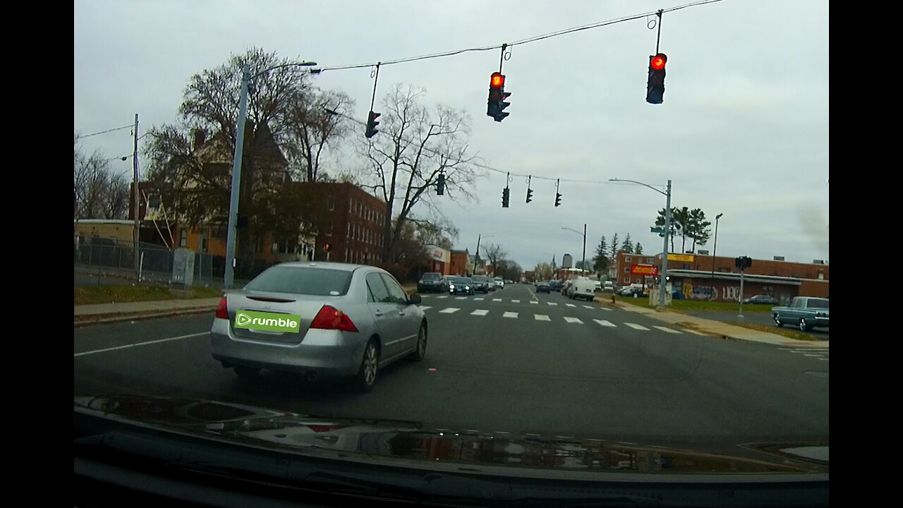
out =
[[[594,437],[521,436],[429,428],[389,419],[336,419],[219,400],[136,395],[75,398],[76,429],[98,422],[138,424],[182,435],[305,456],[431,466],[506,466],[546,473],[824,474],[827,443],[743,443],[717,448],[662,446]],[[437,462],[439,461],[439,462]],[[430,467],[430,466],[428,466]],[[460,467],[460,466],[459,466]]]

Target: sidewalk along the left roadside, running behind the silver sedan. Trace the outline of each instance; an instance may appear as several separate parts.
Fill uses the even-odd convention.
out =
[[[416,285],[404,286],[413,293]],[[95,325],[100,323],[120,323],[135,319],[150,319],[172,315],[213,313],[217,310],[220,297],[191,298],[178,300],[157,300],[151,302],[124,302],[120,304],[94,304],[74,306],[75,325]]]

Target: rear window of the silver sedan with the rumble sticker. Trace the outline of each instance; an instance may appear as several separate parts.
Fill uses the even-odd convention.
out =
[[[295,295],[342,296],[351,283],[349,270],[309,267],[272,267],[247,283],[245,289]]]

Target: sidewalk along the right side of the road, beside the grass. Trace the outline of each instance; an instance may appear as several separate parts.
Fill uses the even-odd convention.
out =
[[[618,302],[612,305],[610,298],[601,298],[599,296],[596,297],[596,302],[607,306],[615,306],[629,312],[646,315],[647,317],[651,317],[652,319],[656,319],[664,323],[683,326],[684,328],[689,328],[697,332],[702,332],[703,334],[710,334],[724,339],[752,341],[757,343],[770,343],[777,345],[789,345],[795,347],[802,346],[819,348],[827,348],[829,342],[801,341],[797,339],[791,339],[790,337],[785,337],[784,335],[759,332],[759,330],[752,330],[750,328],[744,328],[743,326],[729,325],[727,323],[721,323],[721,321],[704,319],[702,317],[696,317],[694,315],[686,315],[667,310],[657,311],[656,309],[648,308],[645,306],[635,306],[633,304],[627,304],[624,302]]]

